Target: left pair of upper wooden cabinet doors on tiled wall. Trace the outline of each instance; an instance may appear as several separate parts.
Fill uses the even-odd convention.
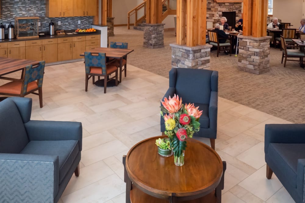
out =
[[[74,0],[46,0],[45,15],[47,17],[73,17]]]

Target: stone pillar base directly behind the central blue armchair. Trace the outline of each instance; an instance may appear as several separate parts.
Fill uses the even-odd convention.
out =
[[[170,44],[172,48],[172,68],[202,69],[210,66],[210,49],[212,45],[185,45]]]

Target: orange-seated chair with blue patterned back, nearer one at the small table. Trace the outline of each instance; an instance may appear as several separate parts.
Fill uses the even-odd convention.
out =
[[[86,83],[85,91],[88,91],[88,80],[92,77],[92,83],[94,84],[94,76],[104,77],[104,93],[106,93],[107,82],[115,78],[115,86],[117,86],[118,69],[114,64],[115,59],[106,63],[105,53],[91,53],[85,52],[85,70],[86,70]],[[115,76],[109,77],[112,73]]]

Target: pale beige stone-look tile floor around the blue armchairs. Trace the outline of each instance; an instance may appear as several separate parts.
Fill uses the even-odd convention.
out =
[[[79,121],[83,125],[80,176],[72,176],[60,203],[125,201],[122,156],[135,143],[160,135],[160,99],[168,79],[128,65],[117,87],[89,82],[82,61],[45,67],[43,108],[33,95],[33,120]],[[11,74],[10,76],[17,76]],[[1,84],[1,81],[0,81]],[[294,202],[275,175],[266,179],[264,125],[290,123],[219,98],[216,151],[227,162],[224,203]],[[197,138],[207,144],[209,139]]]

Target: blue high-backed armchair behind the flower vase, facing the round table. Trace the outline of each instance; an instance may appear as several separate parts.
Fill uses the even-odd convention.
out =
[[[169,72],[169,88],[164,97],[178,94],[182,103],[194,103],[203,110],[199,119],[200,130],[194,136],[210,138],[215,149],[217,135],[218,72],[203,69],[172,68]],[[162,100],[164,100],[164,97]],[[162,105],[162,104],[161,104]],[[165,131],[161,117],[161,132]]]

